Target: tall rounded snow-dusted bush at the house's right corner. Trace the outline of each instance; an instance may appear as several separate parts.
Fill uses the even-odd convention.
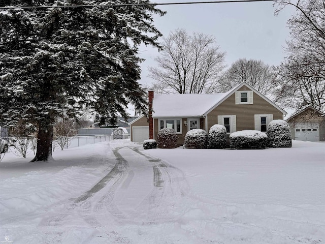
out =
[[[270,122],[267,131],[269,147],[291,147],[291,132],[289,124],[282,119]]]

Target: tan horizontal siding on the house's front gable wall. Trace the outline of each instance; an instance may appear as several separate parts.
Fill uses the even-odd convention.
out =
[[[240,90],[248,90],[243,86]],[[235,93],[208,114],[208,130],[218,124],[218,115],[236,115],[237,131],[254,130],[255,114],[273,114],[273,119],[283,119],[282,111],[253,93],[253,104],[235,104]]]

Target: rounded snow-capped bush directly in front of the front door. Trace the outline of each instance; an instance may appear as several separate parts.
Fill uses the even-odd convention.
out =
[[[193,129],[186,133],[184,145],[186,148],[207,148],[208,135],[205,130]]]

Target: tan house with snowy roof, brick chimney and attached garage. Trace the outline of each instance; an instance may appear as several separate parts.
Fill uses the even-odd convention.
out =
[[[225,126],[228,135],[242,130],[266,132],[271,120],[283,119],[285,114],[246,82],[219,94],[160,95],[149,90],[149,119],[142,116],[130,123],[131,141],[137,140],[141,127],[143,135],[149,133],[145,139],[156,139],[160,129],[173,128],[178,134],[178,145],[184,143],[189,130],[209,132],[215,124]]]

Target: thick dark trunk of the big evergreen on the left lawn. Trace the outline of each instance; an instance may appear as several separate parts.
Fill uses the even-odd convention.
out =
[[[40,123],[36,155],[31,162],[52,160],[53,125]]]

